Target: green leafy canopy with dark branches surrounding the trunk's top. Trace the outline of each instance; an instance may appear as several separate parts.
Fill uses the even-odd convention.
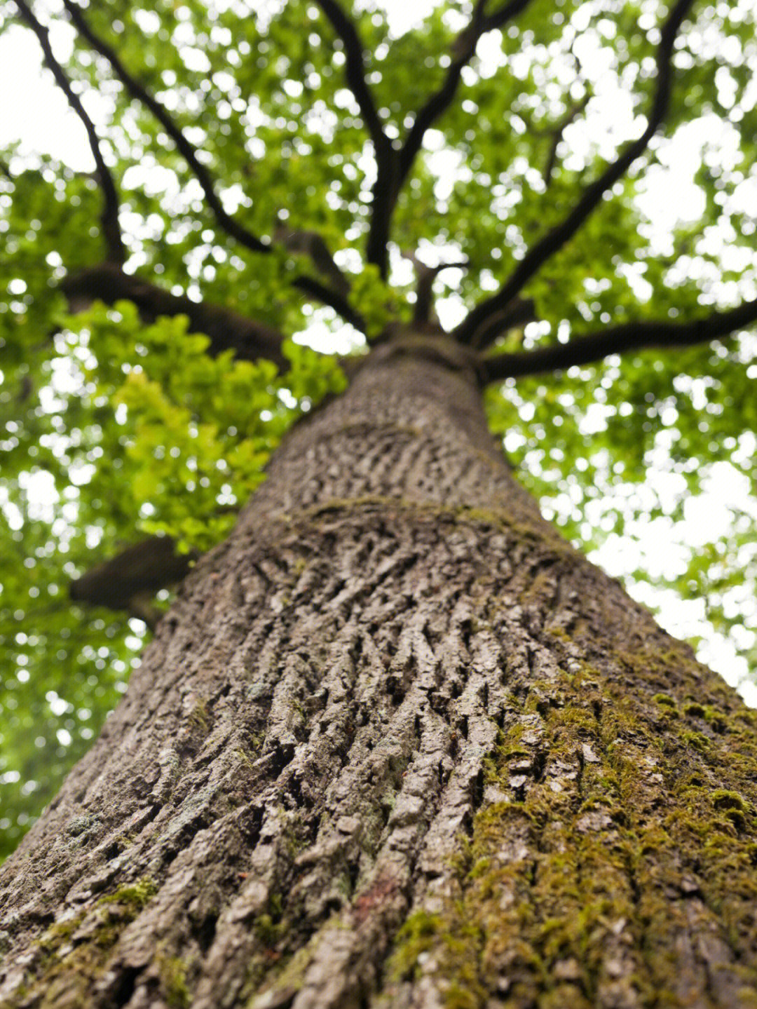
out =
[[[92,154],[0,153],[0,856],[165,605],[103,562],[170,543],[179,577],[390,324],[438,316],[469,348],[522,481],[588,549],[654,519],[672,543],[724,466],[754,490],[749,0],[443,2],[402,28],[346,0],[0,16]],[[752,663],[755,516],[745,496],[633,572],[706,600]]]

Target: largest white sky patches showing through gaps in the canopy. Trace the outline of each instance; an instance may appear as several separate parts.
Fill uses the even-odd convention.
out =
[[[422,18],[431,5],[413,0],[385,0],[392,19],[392,27],[399,33]],[[55,51],[65,60],[71,47],[72,32],[67,24],[56,22],[52,33]],[[489,59],[491,72],[496,70],[499,53],[492,47],[487,52],[487,43],[479,49],[482,59]],[[592,66],[592,53],[585,53],[586,63]],[[596,61],[595,61],[596,63]],[[626,96],[614,90],[608,83],[610,78],[597,70],[594,82],[598,100],[592,103],[592,115],[588,130],[583,125],[566,132],[573,157],[581,157],[588,149],[588,135],[593,137],[611,136],[614,131],[629,134],[632,112]],[[603,91],[604,88],[604,91]],[[48,74],[41,70],[40,50],[30,32],[11,27],[0,36],[0,145],[15,140],[21,141],[21,152],[47,152],[79,171],[94,167],[87,143],[84,127],[69,109],[68,103],[54,87]],[[97,122],[105,117],[106,109],[97,97],[90,96],[88,110]],[[703,133],[702,123],[696,128],[681,129],[675,141],[666,146],[662,164],[649,173],[646,191],[642,197],[643,209],[654,222],[651,240],[664,248],[670,228],[677,220],[693,219],[699,216],[702,195],[693,184],[693,175],[703,156],[705,137],[710,144],[719,143],[723,156],[727,156],[733,138],[727,128],[719,125],[720,135],[714,133],[715,124]],[[454,171],[454,159],[450,170]],[[747,195],[747,199],[754,194]],[[455,300],[450,300],[449,311],[459,311]],[[444,321],[444,320],[443,320]],[[731,507],[745,507],[747,501],[747,481],[728,463],[718,464],[716,477],[711,480],[708,492],[696,500],[687,502],[684,521],[675,529],[676,538],[681,543],[701,545],[710,540],[719,527],[732,521]],[[664,480],[663,474],[660,480]],[[43,494],[44,482],[39,484]],[[662,487],[664,492],[664,487]],[[755,508],[754,503],[751,506]],[[757,511],[755,511],[757,519]],[[681,563],[682,548],[671,539],[671,526],[664,519],[654,522],[639,522],[632,530],[636,541],[631,539],[609,540],[593,557],[610,574],[627,575],[637,567],[674,571]],[[678,637],[705,636],[708,641],[700,650],[700,658],[718,669],[729,683],[738,686],[748,703],[757,706],[757,685],[745,680],[746,664],[736,656],[733,644],[722,637],[712,635],[712,629],[704,621],[705,607],[702,600],[681,602],[672,596],[652,592],[644,584],[630,585],[633,594],[647,604],[661,606],[661,623]],[[749,632],[744,631],[744,634]]]

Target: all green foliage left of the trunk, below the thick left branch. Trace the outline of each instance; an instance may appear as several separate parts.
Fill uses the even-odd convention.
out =
[[[141,622],[73,609],[72,577],[147,533],[218,543],[283,432],[345,382],[335,358],[293,341],[286,375],[212,357],[184,317],[145,326],[130,302],[67,316],[54,300],[53,324],[35,347],[20,314],[0,385],[0,857],[139,661]]]

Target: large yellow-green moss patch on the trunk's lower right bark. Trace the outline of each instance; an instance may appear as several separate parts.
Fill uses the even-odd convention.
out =
[[[487,762],[489,784],[511,798],[461,838],[457,895],[400,930],[397,981],[432,975],[455,1009],[489,998],[683,1006],[681,949],[710,942],[695,956],[757,1006],[757,973],[739,966],[757,927],[751,713],[655,692],[666,664],[673,682],[681,663],[699,679],[676,650],[620,662],[634,666],[635,696],[596,670],[534,682]],[[681,708],[685,720],[669,717]]]

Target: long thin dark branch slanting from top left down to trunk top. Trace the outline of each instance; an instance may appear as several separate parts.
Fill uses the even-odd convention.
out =
[[[254,235],[251,231],[241,225],[236,218],[232,217],[224,210],[221,199],[216,193],[213,177],[200,160],[198,148],[194,144],[190,143],[167,110],[158,101],[156,101],[155,98],[153,98],[147,89],[144,88],[144,86],[140,84],[140,82],[132,74],[129,73],[119,59],[115,49],[92,30],[82,9],[78,4],[74,3],[74,0],[64,0],[64,7],[69,12],[69,16],[82,37],[89,42],[96,52],[108,62],[111,70],[121,81],[129,94],[150,110],[171,140],[173,140],[176,145],[176,149],[184,158],[193,175],[200,183],[208,202],[208,206],[210,207],[219,227],[221,227],[221,229],[230,237],[238,241],[240,245],[250,249],[252,252],[270,252],[273,248],[270,243],[261,241],[257,235]],[[353,326],[356,326],[359,329],[364,327],[362,317],[350,305],[348,305],[346,299],[338,292],[332,291],[330,288],[314,279],[314,277],[295,277],[294,281],[292,281],[292,286],[304,294],[307,294],[309,297],[318,299],[325,305],[329,305],[335,310],[335,312],[341,315]]]

